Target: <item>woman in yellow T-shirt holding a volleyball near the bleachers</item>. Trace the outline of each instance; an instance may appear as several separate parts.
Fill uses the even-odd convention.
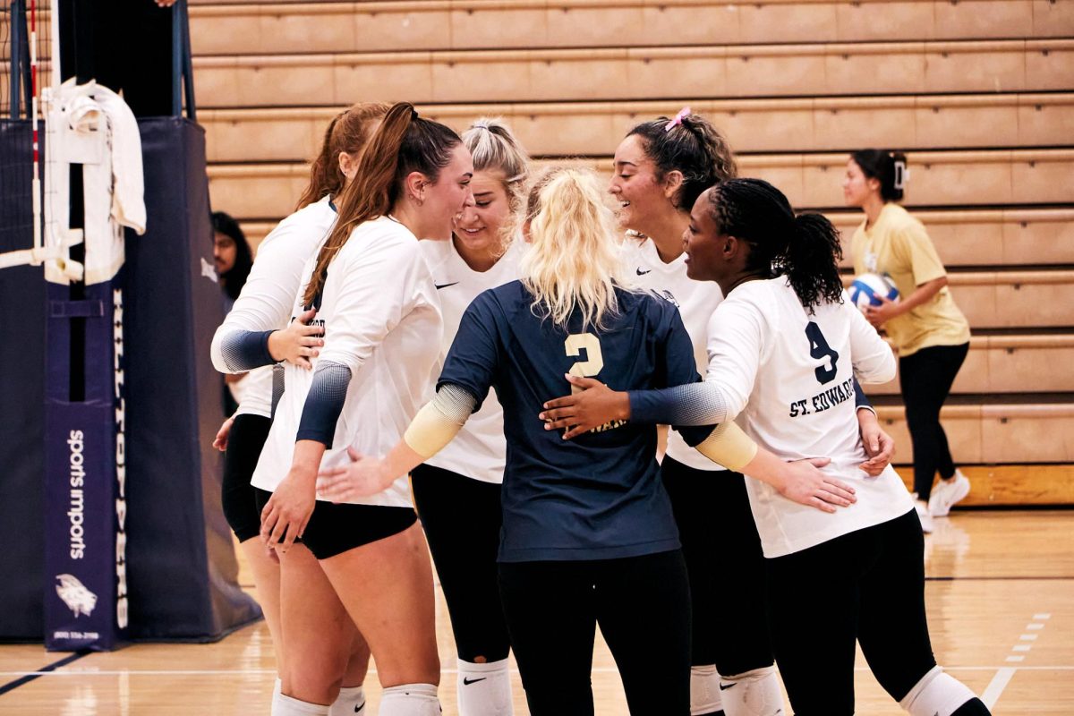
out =
[[[947,289],[947,272],[920,221],[896,202],[902,200],[906,158],[879,149],[855,151],[846,162],[843,199],[866,214],[854,232],[854,273],[886,274],[901,299],[866,308],[899,352],[899,381],[914,447],[914,491],[925,531],[932,517],[970,492],[955,467],[940,408],[970,348],[970,324]],[[941,482],[932,489],[939,470]]]

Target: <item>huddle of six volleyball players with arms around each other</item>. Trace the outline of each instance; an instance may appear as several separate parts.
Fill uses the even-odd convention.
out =
[[[531,714],[592,714],[597,625],[633,714],[780,714],[781,677],[853,714],[857,642],[909,713],[988,714],[932,655],[840,251],[688,111],[610,186],[496,120],[333,119],[213,342],[262,376],[218,444],[274,716],[360,712],[371,652],[380,714],[440,713],[430,553],[462,716],[513,713],[509,652]]]

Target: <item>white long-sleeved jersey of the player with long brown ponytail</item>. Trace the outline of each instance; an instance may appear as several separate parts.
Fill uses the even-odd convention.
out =
[[[306,262],[304,288],[316,255]],[[321,468],[350,463],[347,448],[384,455],[403,437],[429,397],[440,346],[440,305],[418,239],[394,219],[380,217],[357,227],[329,265],[320,312],[324,348],[314,370],[288,364],[287,390],[250,480],[273,491],[291,467],[295,436],[317,365],[330,362],[350,370],[347,397],[335,425],[332,448]],[[302,310],[302,295],[293,303]],[[361,505],[410,507],[406,477]]]

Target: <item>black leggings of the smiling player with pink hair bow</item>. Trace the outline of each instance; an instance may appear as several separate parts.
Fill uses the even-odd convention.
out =
[[[770,667],[768,589],[760,536],[739,472],[661,466],[690,572],[695,667],[724,676]]]

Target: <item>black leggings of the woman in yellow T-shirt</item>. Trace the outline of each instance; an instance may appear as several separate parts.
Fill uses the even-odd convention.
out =
[[[969,350],[970,344],[933,346],[899,359],[899,383],[914,447],[914,492],[926,501],[937,470],[944,480],[955,474],[947,434],[940,424],[940,408]]]

